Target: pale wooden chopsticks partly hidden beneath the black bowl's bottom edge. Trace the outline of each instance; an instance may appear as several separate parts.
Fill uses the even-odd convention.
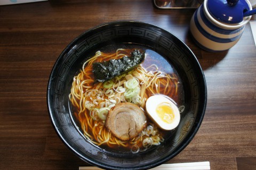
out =
[[[95,166],[80,166],[79,170],[101,169]],[[151,170],[210,170],[210,162],[202,161],[196,163],[162,164]]]

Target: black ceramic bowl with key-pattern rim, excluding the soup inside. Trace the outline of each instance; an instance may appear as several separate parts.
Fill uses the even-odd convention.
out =
[[[146,152],[114,152],[91,144],[80,132],[70,108],[71,83],[83,62],[101,48],[119,45],[137,45],[155,51],[172,64],[182,79],[185,111],[180,124],[172,137]],[[204,117],[206,93],[203,71],[193,52],[179,38],[149,23],[123,21],[90,29],[65,48],[50,75],[47,106],[61,140],[87,163],[105,169],[148,169],[170,160],[193,139]]]

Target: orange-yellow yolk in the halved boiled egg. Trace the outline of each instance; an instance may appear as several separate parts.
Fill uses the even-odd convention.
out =
[[[170,104],[168,103],[160,103],[156,107],[156,113],[159,118],[163,120],[163,122],[171,124],[174,119],[174,112]]]

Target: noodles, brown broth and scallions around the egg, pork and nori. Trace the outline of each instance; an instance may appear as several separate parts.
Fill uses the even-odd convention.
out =
[[[146,111],[147,99],[163,94],[183,105],[182,84],[177,72],[159,54],[145,50],[146,59],[133,70],[118,75],[107,82],[95,82],[92,63],[121,59],[130,56],[133,48],[118,48],[114,52],[97,51],[87,60],[74,77],[69,100],[73,114],[87,140],[104,149],[137,153],[159,145],[172,132],[163,131],[147,116],[145,127],[135,137],[121,140],[106,127],[110,109],[117,104],[129,102]],[[143,51],[140,49],[140,51]],[[167,63],[167,66],[164,64]]]

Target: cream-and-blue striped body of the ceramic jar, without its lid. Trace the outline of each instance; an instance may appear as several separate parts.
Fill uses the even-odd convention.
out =
[[[190,21],[190,33],[196,44],[206,51],[225,51],[233,47],[242,36],[244,27],[251,16],[239,23],[225,23],[215,19],[207,8],[207,1],[198,7]],[[252,6],[245,0],[250,10]],[[221,12],[221,11],[220,11]]]

